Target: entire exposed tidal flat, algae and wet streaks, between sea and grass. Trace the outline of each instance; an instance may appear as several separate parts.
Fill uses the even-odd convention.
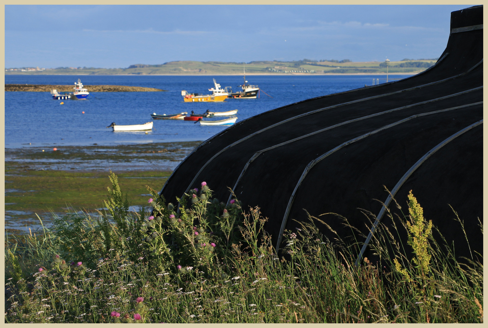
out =
[[[104,208],[110,169],[119,176],[129,205],[147,206],[145,186],[160,191],[176,165],[200,143],[5,149],[5,228],[39,227],[36,213],[48,223],[51,212]]]

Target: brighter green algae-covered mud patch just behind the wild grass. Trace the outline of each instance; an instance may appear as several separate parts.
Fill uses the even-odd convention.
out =
[[[20,173],[20,172],[19,172]],[[146,185],[159,191],[171,172],[115,172],[127,191],[132,206],[147,205]],[[9,175],[5,181],[5,225],[18,227],[20,222],[39,223],[35,213],[63,213],[84,209],[95,212],[104,208],[109,172],[28,171]],[[50,215],[48,214],[47,217]],[[12,221],[12,222],[10,222]],[[37,222],[36,222],[37,221]],[[22,226],[24,224],[21,224]]]

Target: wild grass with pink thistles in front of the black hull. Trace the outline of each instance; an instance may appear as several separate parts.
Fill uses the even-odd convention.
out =
[[[235,197],[226,206],[205,182],[179,206],[148,188],[146,217],[144,208],[127,213],[115,174],[110,180],[108,213],[69,214],[41,237],[8,240],[5,322],[483,320],[483,267],[462,266],[432,239],[413,194],[399,228],[409,234],[413,259],[380,225],[371,247],[383,267],[367,258],[356,267],[358,245],[324,238],[320,218],[285,231],[277,254],[259,208],[243,211]]]

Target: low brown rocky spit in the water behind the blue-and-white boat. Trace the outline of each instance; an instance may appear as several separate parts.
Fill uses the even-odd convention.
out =
[[[166,91],[156,88],[130,87],[125,85],[84,85],[88,92],[155,92]],[[73,91],[73,85],[48,85],[48,84],[5,84],[5,91],[34,91],[50,92],[56,89],[59,92]]]

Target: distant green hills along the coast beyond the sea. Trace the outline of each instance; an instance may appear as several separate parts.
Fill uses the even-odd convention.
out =
[[[416,74],[434,65],[436,59],[404,59],[390,61],[388,73]],[[296,74],[386,74],[386,63],[338,60],[251,61],[169,61],[164,64],[134,64],[127,68],[59,67],[55,69],[5,69],[5,74],[25,75],[242,75],[245,66],[249,75]]]

